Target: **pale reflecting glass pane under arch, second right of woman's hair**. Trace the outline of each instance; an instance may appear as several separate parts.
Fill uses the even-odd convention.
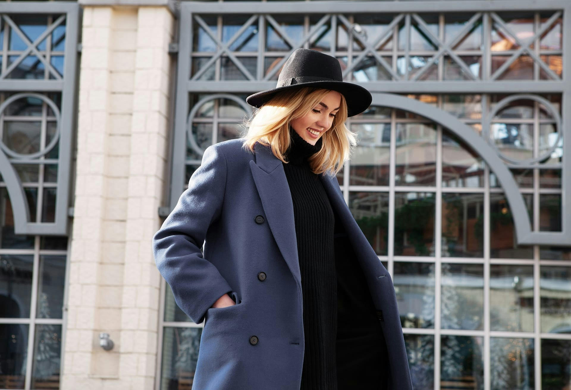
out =
[[[397,123],[397,186],[434,186],[436,183],[436,126]]]

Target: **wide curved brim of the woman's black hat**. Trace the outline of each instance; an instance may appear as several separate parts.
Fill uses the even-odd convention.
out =
[[[354,116],[367,110],[367,108],[371,106],[373,99],[371,93],[367,89],[357,84],[344,81],[312,81],[261,91],[248,96],[246,98],[246,103],[250,104],[250,106],[260,108],[276,94],[284,90],[300,87],[323,88],[343,94],[347,101],[347,116]]]

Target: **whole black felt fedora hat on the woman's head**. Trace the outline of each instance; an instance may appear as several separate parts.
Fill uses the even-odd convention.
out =
[[[315,87],[337,91],[347,100],[347,116],[360,114],[371,105],[371,93],[364,87],[344,82],[339,60],[321,51],[297,49],[287,59],[275,88],[250,95],[250,106],[262,107],[264,103],[283,90],[299,87]]]

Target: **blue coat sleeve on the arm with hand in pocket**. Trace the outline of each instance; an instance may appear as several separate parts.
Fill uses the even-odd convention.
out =
[[[152,240],[156,267],[171,287],[176,304],[196,324],[220,296],[232,291],[200,251],[208,227],[220,216],[226,175],[224,153],[216,145],[208,147],[188,189]]]

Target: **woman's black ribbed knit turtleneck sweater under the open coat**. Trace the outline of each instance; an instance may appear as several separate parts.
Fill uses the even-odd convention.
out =
[[[337,281],[333,228],[335,216],[319,177],[307,158],[323,142],[306,142],[293,128],[291,146],[284,153],[284,171],[293,202],[297,256],[303,294],[305,352],[300,389],[335,390],[337,374]]]

